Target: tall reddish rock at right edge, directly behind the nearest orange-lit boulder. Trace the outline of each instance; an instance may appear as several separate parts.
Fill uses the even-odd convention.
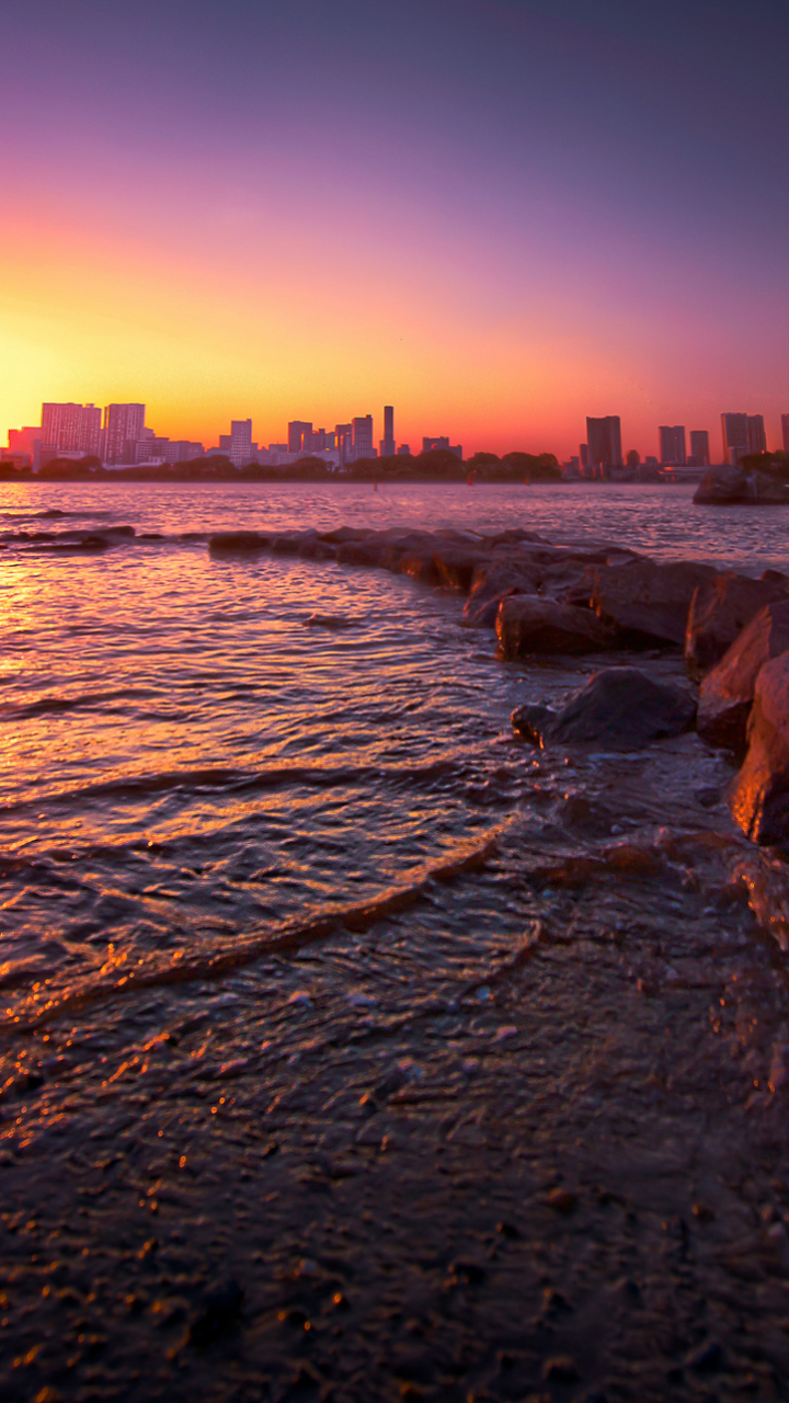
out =
[[[767,605],[751,619],[699,692],[698,731],[713,745],[745,746],[757,678],[765,662],[789,650],[789,599]]]

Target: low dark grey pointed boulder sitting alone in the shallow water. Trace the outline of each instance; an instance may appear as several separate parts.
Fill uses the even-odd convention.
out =
[[[695,710],[688,692],[657,682],[639,668],[605,668],[573,693],[562,710],[519,707],[512,711],[512,725],[536,745],[555,741],[637,751],[650,741],[687,731]]]

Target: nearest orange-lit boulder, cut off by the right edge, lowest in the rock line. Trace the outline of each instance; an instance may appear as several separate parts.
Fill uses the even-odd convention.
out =
[[[789,839],[789,652],[762,666],[748,720],[748,753],[729,796],[755,843]]]

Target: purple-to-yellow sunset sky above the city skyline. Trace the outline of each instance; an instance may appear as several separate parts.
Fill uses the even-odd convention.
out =
[[[6,0],[0,425],[789,412],[789,7]],[[1,432],[1,429],[0,429]]]

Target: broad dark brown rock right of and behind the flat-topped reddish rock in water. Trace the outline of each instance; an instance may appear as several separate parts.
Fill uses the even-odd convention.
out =
[[[717,571],[712,565],[677,561],[658,565],[633,560],[588,571],[588,599],[599,619],[635,645],[685,643],[691,599]]]

